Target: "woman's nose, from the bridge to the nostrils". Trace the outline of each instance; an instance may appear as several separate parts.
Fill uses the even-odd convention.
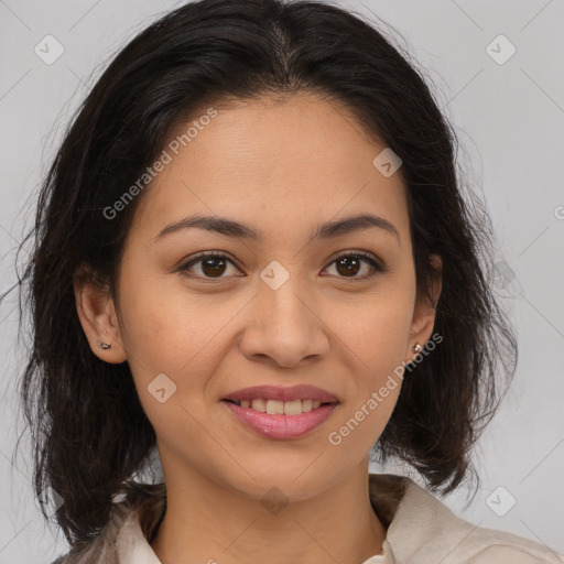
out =
[[[323,305],[297,276],[291,275],[276,290],[261,283],[249,319],[240,341],[249,360],[295,368],[319,360],[329,350]]]

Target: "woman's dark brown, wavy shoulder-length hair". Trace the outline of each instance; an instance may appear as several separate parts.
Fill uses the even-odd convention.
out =
[[[32,252],[14,285],[20,315],[29,308],[32,322],[19,393],[34,490],[50,487],[64,500],[55,518],[72,545],[99,533],[113,496],[135,487],[131,477],[156,444],[128,362],[107,364],[90,349],[74,276],[115,294],[143,194],[112,219],[104,209],[151,165],[175,127],[215,101],[316,94],[340,102],[402,160],[419,297],[432,296],[431,254],[443,262],[434,304],[443,341],[405,371],[375,459],[406,463],[442,494],[475,473],[471,447],[501,401],[497,373],[503,383],[513,376],[517,339],[489,285],[488,214],[475,194],[465,200],[457,178],[456,133],[400,51],[328,2],[200,0],[134,36],[76,111],[43,178],[22,242],[31,240]]]

